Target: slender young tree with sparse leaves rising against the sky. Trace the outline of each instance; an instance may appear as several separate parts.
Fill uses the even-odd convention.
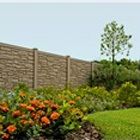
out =
[[[129,55],[132,45],[129,43],[131,35],[126,35],[123,25],[118,25],[115,21],[107,24],[104,33],[101,35],[101,55],[106,55],[112,62],[112,80],[115,82],[115,58],[118,54]]]

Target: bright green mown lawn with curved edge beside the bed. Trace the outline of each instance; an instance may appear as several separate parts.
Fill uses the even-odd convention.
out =
[[[105,140],[140,140],[140,108],[97,112],[86,117]]]

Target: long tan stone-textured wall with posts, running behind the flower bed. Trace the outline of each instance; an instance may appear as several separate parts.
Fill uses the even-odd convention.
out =
[[[87,84],[91,62],[0,43],[0,87],[72,87]]]

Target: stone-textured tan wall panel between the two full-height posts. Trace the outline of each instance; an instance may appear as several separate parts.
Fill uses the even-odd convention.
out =
[[[38,86],[66,85],[66,57],[38,52]]]

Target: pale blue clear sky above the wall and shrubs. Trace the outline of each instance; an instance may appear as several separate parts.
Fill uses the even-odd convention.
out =
[[[139,60],[139,13],[140,3],[0,3],[0,42],[101,60],[101,34],[115,20],[132,35],[128,58]]]

